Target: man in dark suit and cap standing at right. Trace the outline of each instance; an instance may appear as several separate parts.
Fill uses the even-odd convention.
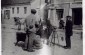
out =
[[[71,48],[71,40],[70,37],[72,36],[72,19],[71,16],[66,17],[66,26],[65,26],[65,39],[66,39],[66,46],[64,46],[65,49],[70,49]]]

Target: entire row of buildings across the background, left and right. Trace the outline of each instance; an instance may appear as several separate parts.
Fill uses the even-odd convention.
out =
[[[4,1],[4,0],[3,0]],[[31,9],[37,10],[37,20],[48,18],[53,26],[59,27],[60,19],[72,16],[74,25],[82,25],[82,0],[6,0],[1,7],[2,19],[25,18]]]

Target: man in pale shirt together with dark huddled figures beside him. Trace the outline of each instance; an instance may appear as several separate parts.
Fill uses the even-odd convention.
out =
[[[31,14],[25,19],[25,31],[26,40],[24,50],[34,51],[34,46],[41,47],[41,40],[47,40],[49,42],[49,36],[51,34],[51,24],[47,19],[43,19],[42,22],[36,21],[36,10],[31,9]],[[39,39],[40,38],[40,39]]]

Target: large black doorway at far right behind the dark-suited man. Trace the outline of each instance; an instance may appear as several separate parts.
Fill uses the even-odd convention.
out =
[[[72,18],[74,25],[82,25],[82,8],[73,8]]]

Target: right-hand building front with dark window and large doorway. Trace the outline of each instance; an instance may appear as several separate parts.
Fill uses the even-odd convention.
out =
[[[82,0],[48,0],[48,18],[59,27],[59,20],[66,22],[66,16],[72,16],[74,25],[82,25]],[[56,25],[55,25],[56,24]]]

